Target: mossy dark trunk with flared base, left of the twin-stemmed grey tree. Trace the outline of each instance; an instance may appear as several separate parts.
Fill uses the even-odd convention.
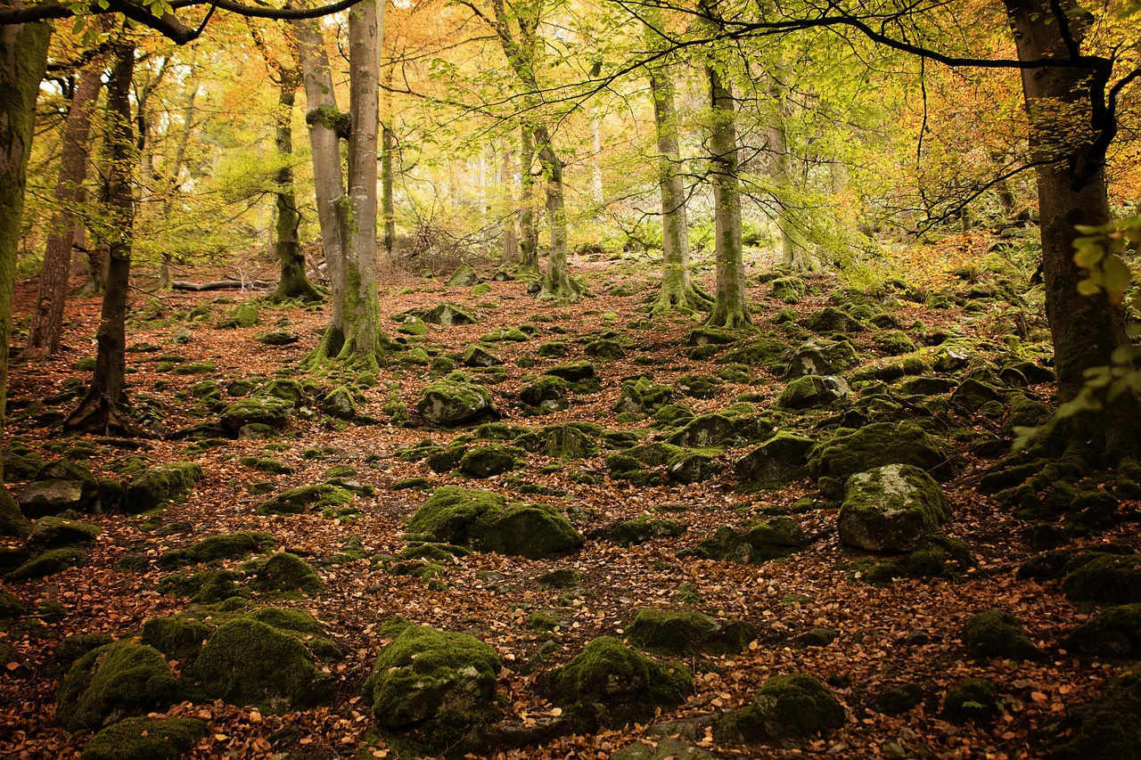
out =
[[[277,130],[274,144],[281,168],[277,170],[276,211],[274,226],[274,254],[281,266],[281,278],[274,300],[296,298],[301,301],[319,301],[323,296],[305,274],[305,253],[298,237],[301,215],[297,210],[297,196],[293,192],[293,167],[290,157],[293,155],[293,104],[297,88],[300,84],[293,72],[278,70],[281,78],[277,83]]]

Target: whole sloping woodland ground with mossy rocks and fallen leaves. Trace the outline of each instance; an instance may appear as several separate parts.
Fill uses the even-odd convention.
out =
[[[59,434],[73,300],[68,350],[10,377],[37,522],[0,543],[0,747],[1138,757],[1141,486],[992,469],[1052,372],[1025,273],[981,261],[760,262],[748,334],[650,318],[648,258],[578,258],[572,306],[445,273],[385,288],[378,372],[299,369],[319,309],[135,293],[132,440]]]

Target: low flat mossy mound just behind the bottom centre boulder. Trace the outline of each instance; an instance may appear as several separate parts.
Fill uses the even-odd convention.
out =
[[[698,612],[639,609],[626,628],[630,641],[644,649],[680,655],[697,652],[734,654],[756,636],[756,629],[739,621],[719,621]]]

